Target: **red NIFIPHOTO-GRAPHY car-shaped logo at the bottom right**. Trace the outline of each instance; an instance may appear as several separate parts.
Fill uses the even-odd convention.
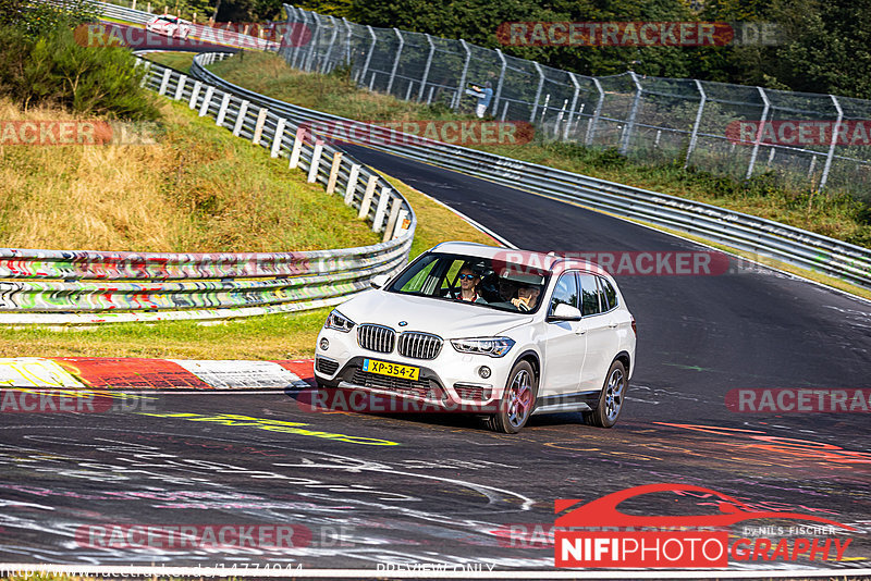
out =
[[[645,494],[674,492],[702,495],[720,510],[713,515],[641,516],[617,510],[617,505]],[[580,500],[561,499],[556,514]],[[748,539],[733,535],[728,527],[755,519],[802,520],[820,523],[796,530],[834,533],[855,531],[826,518],[800,512],[753,510],[719,492],[689,484],[647,484],[609,494],[562,515],[554,522],[556,567],[606,568],[726,568],[734,561],[842,560],[851,539],[792,536]],[[602,528],[617,530],[597,530]],[[667,530],[666,530],[667,529]],[[768,530],[768,529],[766,529]],[[780,529],[783,530],[783,529]]]

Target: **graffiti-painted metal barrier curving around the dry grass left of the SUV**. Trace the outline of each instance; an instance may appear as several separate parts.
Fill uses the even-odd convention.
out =
[[[207,60],[221,58],[214,54]],[[223,319],[341,302],[408,259],[417,219],[381,176],[305,139],[292,120],[172,69],[139,61],[143,84],[252,140],[340,195],[383,233],[359,248],[275,254],[136,254],[0,249],[0,323]]]

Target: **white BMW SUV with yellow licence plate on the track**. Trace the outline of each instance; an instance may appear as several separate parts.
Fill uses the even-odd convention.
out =
[[[636,325],[598,265],[453,242],[372,286],[333,310],[318,335],[319,387],[483,415],[505,433],[548,412],[616,423]]]

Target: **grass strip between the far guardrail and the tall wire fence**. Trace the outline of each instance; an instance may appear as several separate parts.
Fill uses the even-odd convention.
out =
[[[330,75],[292,70],[278,55],[248,52],[210,66],[231,83],[302,107],[363,121],[474,119],[443,106],[401,101],[359,89],[346,71]],[[749,182],[684,170],[675,164],[642,164],[599,150],[536,139],[517,146],[481,146],[501,156],[689,198],[775,220],[871,247],[871,206],[846,194],[814,194],[784,187],[774,175]]]

